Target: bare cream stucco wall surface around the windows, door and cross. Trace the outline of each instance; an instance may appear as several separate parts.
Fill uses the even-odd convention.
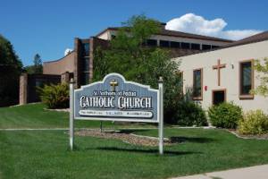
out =
[[[268,98],[255,95],[254,99],[239,99],[239,62],[264,59],[264,57],[268,57],[268,40],[183,56],[175,60],[181,60],[180,71],[183,72],[184,91],[187,87],[193,86],[193,70],[203,68],[203,100],[200,100],[200,103],[205,109],[212,105],[212,90],[226,89],[227,101],[233,101],[243,107],[244,111],[262,109],[268,114]],[[226,64],[226,67],[221,69],[221,86],[218,86],[217,70],[213,70],[213,65],[217,64],[218,59],[221,59],[221,64]],[[254,73],[256,87],[260,81],[256,79],[257,72]],[[206,91],[205,86],[207,86]]]

